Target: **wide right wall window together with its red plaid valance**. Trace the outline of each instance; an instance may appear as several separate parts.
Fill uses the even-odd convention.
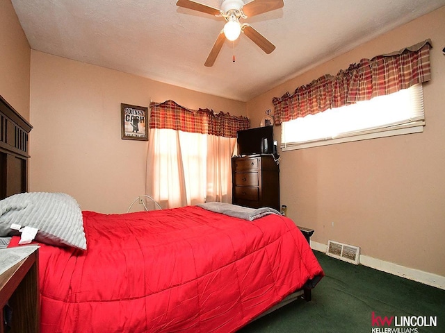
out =
[[[424,40],[363,58],[336,76],[325,74],[274,97],[283,150],[422,132],[421,84],[431,80],[430,48]]]

